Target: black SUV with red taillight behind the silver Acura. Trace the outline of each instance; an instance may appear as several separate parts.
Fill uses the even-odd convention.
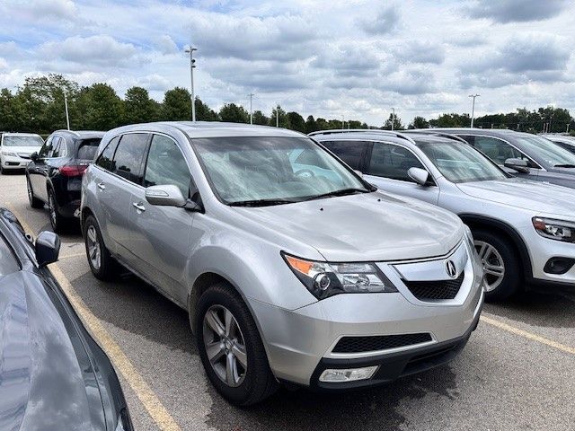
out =
[[[93,162],[102,136],[103,132],[57,130],[39,153],[31,154],[31,163],[26,166],[30,206],[48,204],[54,232],[77,223],[74,216],[80,207],[82,175]]]

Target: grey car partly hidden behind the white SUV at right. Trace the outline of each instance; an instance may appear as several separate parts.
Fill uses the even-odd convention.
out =
[[[463,137],[517,177],[575,188],[575,154],[542,136],[493,128],[432,130]]]

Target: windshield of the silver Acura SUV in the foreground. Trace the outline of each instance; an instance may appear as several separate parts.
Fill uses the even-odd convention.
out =
[[[229,205],[298,202],[367,192],[363,181],[305,137],[193,139],[212,188]]]

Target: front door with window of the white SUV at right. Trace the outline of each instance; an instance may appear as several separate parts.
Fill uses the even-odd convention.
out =
[[[437,205],[439,188],[431,174],[429,174],[429,184],[420,186],[408,175],[410,168],[428,171],[409,148],[374,142],[367,159],[366,180],[375,184],[379,189]]]

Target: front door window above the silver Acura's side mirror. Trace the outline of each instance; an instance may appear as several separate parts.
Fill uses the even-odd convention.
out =
[[[144,187],[172,184],[181,189],[184,197],[190,198],[190,179],[190,169],[178,145],[169,137],[154,135],[147,156]]]

